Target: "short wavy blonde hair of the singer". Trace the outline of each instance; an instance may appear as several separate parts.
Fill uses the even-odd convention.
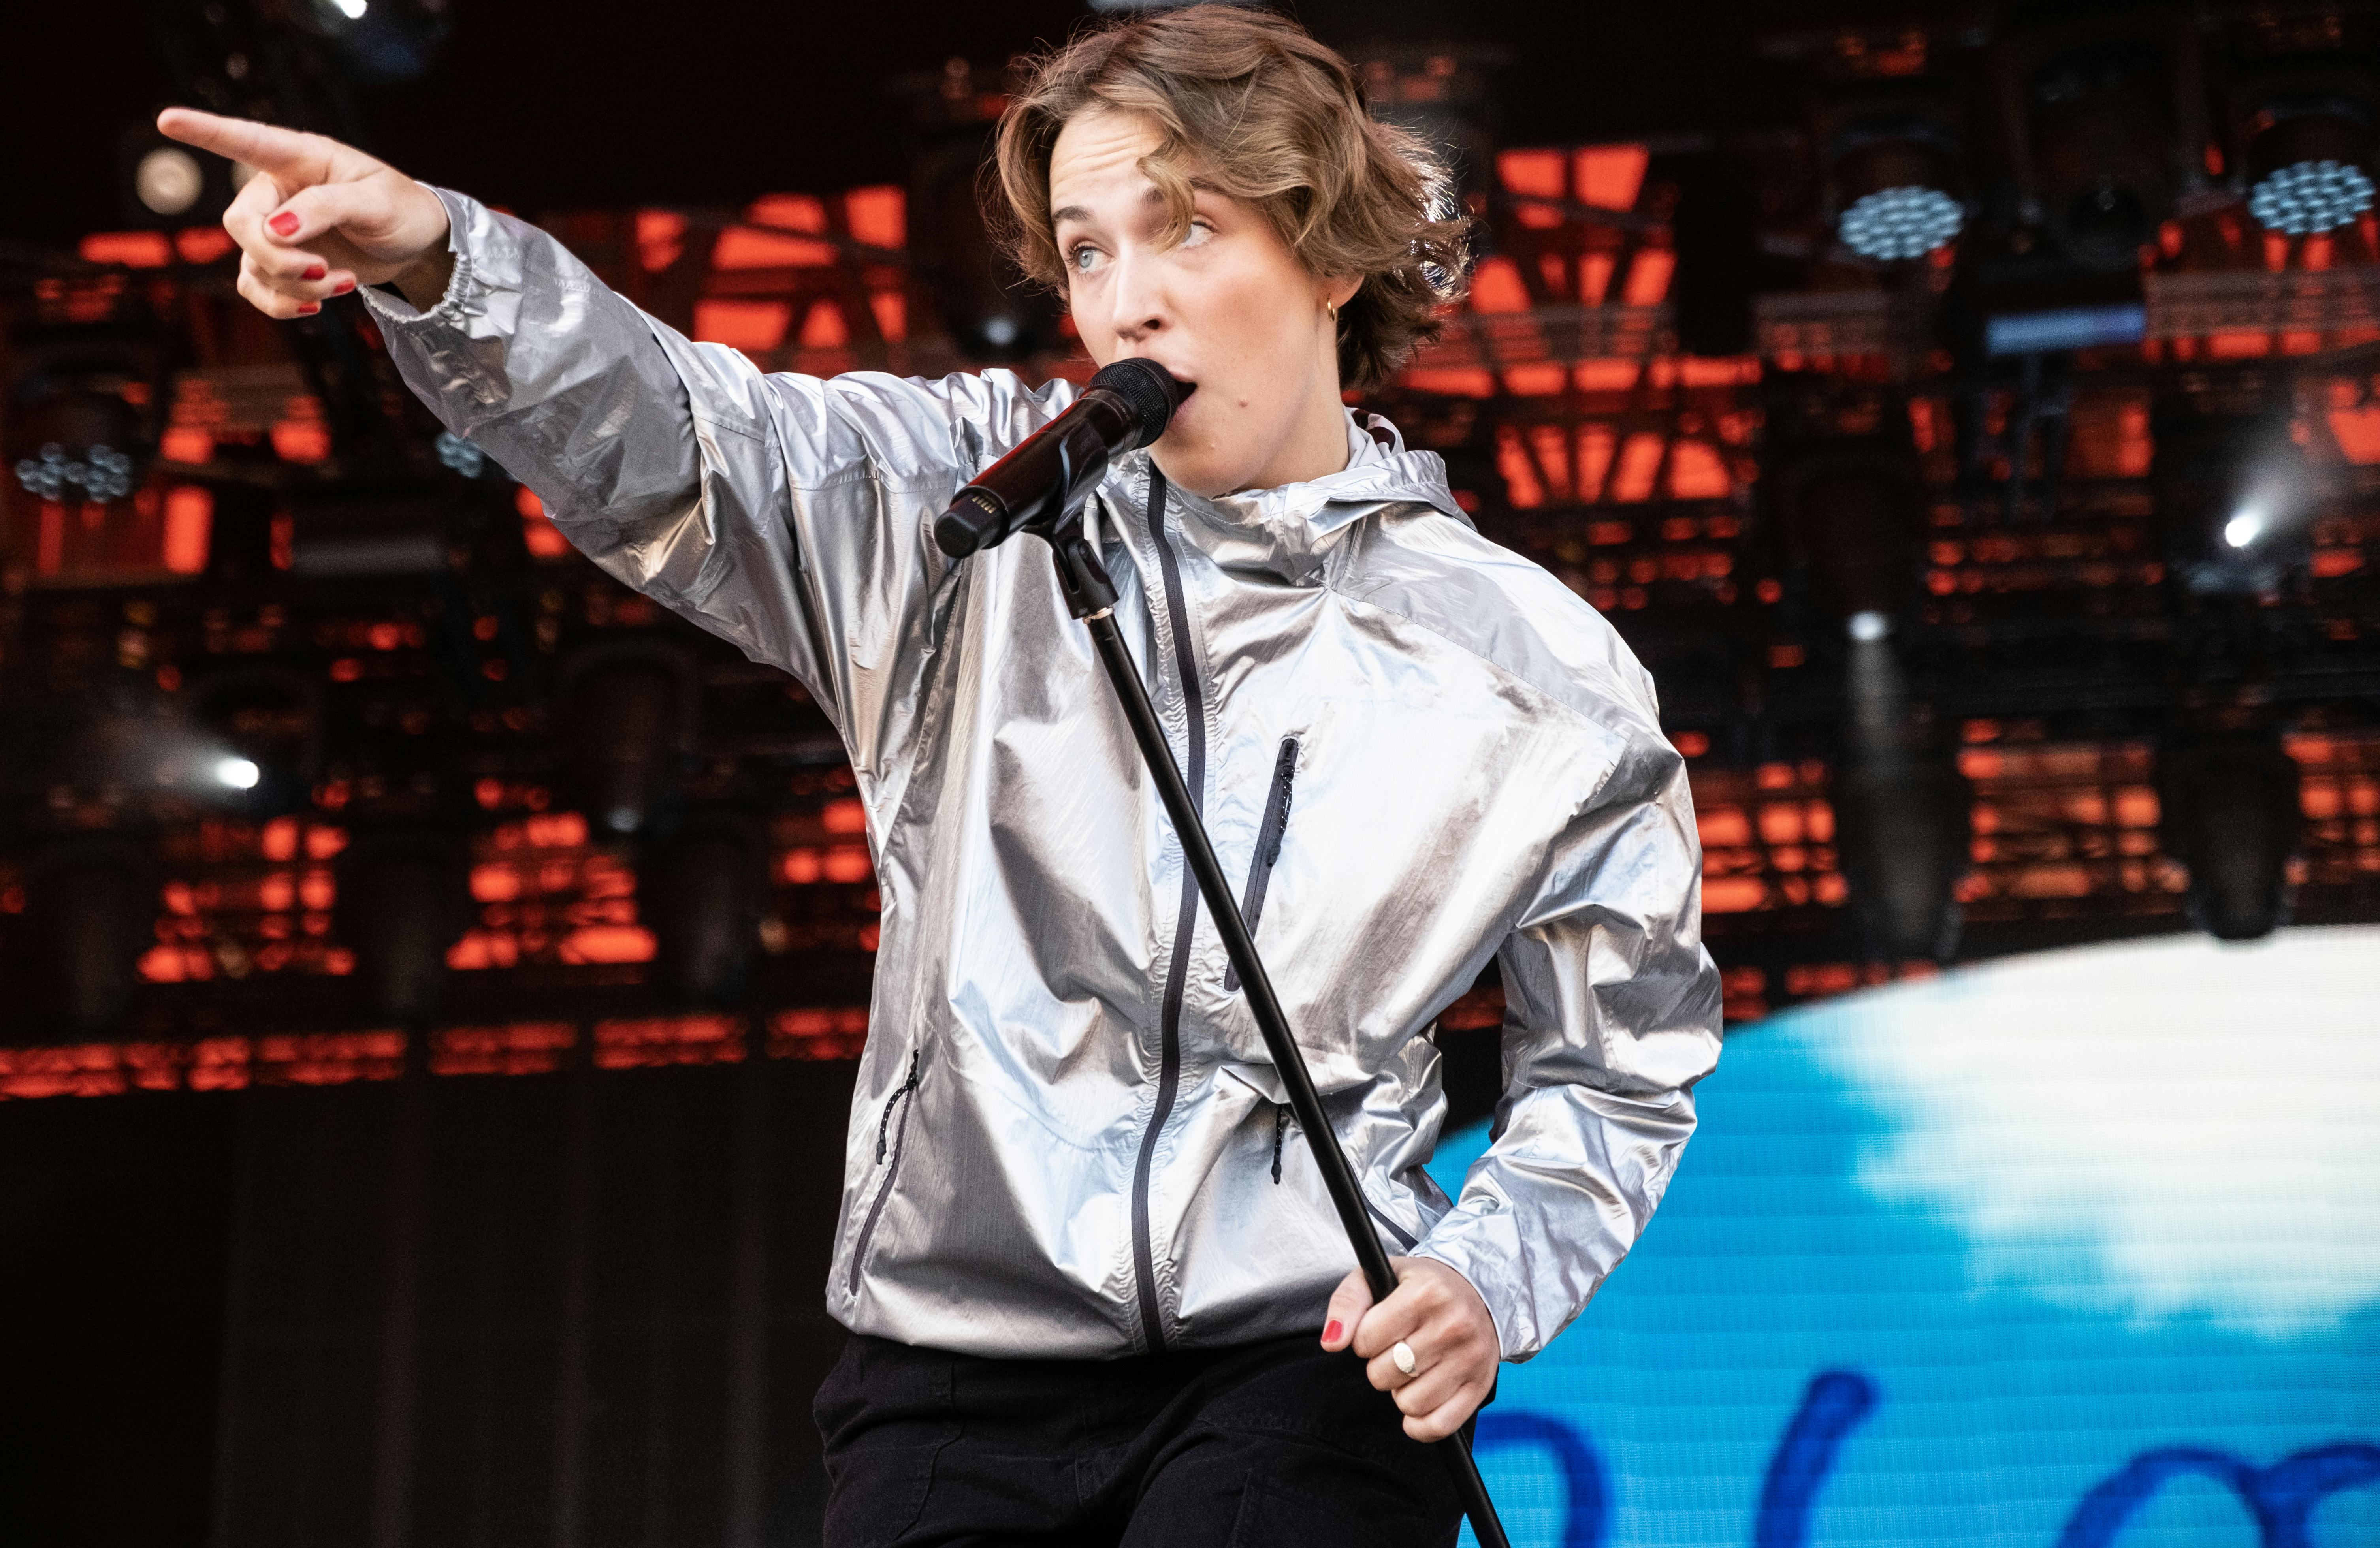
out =
[[[1019,266],[1066,292],[1050,224],[1059,128],[1102,107],[1147,114],[1161,138],[1140,171],[1164,193],[1166,243],[1190,235],[1190,178],[1264,212],[1314,276],[1361,276],[1340,307],[1340,385],[1385,383],[1438,338],[1461,297],[1466,226],[1445,159],[1380,124],[1338,52],[1295,21],[1235,5],[1095,26],[1028,67],[1000,117],[997,176]]]

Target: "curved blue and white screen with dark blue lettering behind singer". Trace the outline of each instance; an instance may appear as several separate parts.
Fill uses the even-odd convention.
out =
[[[1480,1420],[1514,1543],[2380,1546],[2380,930],[1825,1001],[1697,1103]]]

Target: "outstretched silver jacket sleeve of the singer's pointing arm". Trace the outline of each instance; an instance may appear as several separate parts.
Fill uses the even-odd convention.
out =
[[[445,297],[416,312],[364,292],[405,383],[588,559],[790,671],[852,761],[881,766],[947,575],[933,518],[1071,388],[764,376],[635,309],[536,226],[438,197]]]

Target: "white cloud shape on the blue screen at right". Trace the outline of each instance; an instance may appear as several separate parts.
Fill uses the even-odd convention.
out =
[[[2380,1301],[2380,927],[2087,946],[1787,1018],[1978,1282],[2266,1339]]]

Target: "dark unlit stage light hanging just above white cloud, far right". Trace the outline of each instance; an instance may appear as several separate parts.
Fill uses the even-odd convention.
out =
[[[2297,761],[2271,735],[2223,732],[2166,751],[2156,773],[2166,851],[2190,868],[2192,923],[2223,942],[2287,923]]]

